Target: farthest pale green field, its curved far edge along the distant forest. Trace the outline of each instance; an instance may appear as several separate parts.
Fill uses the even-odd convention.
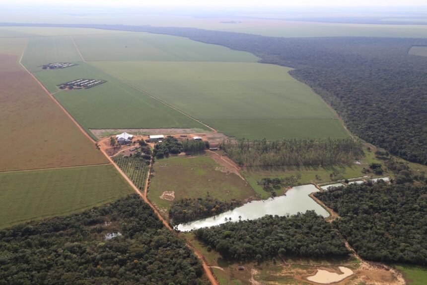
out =
[[[73,36],[86,61],[257,62],[248,52],[150,33]]]

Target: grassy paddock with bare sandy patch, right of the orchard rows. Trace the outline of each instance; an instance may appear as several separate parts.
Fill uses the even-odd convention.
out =
[[[171,201],[160,198],[164,191],[175,191],[175,199],[206,197],[208,192],[220,200],[243,200],[255,196],[245,181],[218,168],[220,165],[209,155],[156,160],[148,197],[159,208],[168,210]]]

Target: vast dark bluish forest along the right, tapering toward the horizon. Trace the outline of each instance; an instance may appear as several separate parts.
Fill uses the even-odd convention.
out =
[[[360,138],[406,160],[427,164],[427,57],[408,54],[413,45],[427,46],[427,39],[281,38],[149,25],[41,26],[169,34],[251,52],[262,63],[294,68],[290,74],[331,104]]]

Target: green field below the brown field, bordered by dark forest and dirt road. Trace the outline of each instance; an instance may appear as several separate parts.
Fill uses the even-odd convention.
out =
[[[111,165],[0,173],[0,228],[70,214],[132,193]]]

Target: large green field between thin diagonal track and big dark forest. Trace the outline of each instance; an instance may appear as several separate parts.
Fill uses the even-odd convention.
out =
[[[229,136],[346,137],[329,106],[289,68],[230,62],[93,62]]]

